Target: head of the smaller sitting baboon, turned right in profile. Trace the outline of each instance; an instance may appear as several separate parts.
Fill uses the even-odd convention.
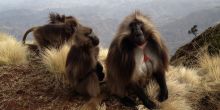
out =
[[[78,26],[76,37],[78,42],[86,43],[90,46],[97,46],[99,44],[99,38],[94,34],[93,30],[83,25]]]

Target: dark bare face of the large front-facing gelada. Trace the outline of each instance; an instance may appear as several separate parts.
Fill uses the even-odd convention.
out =
[[[146,42],[146,36],[144,35],[144,23],[139,20],[134,20],[129,24],[131,31],[131,39],[134,44],[140,46]]]

